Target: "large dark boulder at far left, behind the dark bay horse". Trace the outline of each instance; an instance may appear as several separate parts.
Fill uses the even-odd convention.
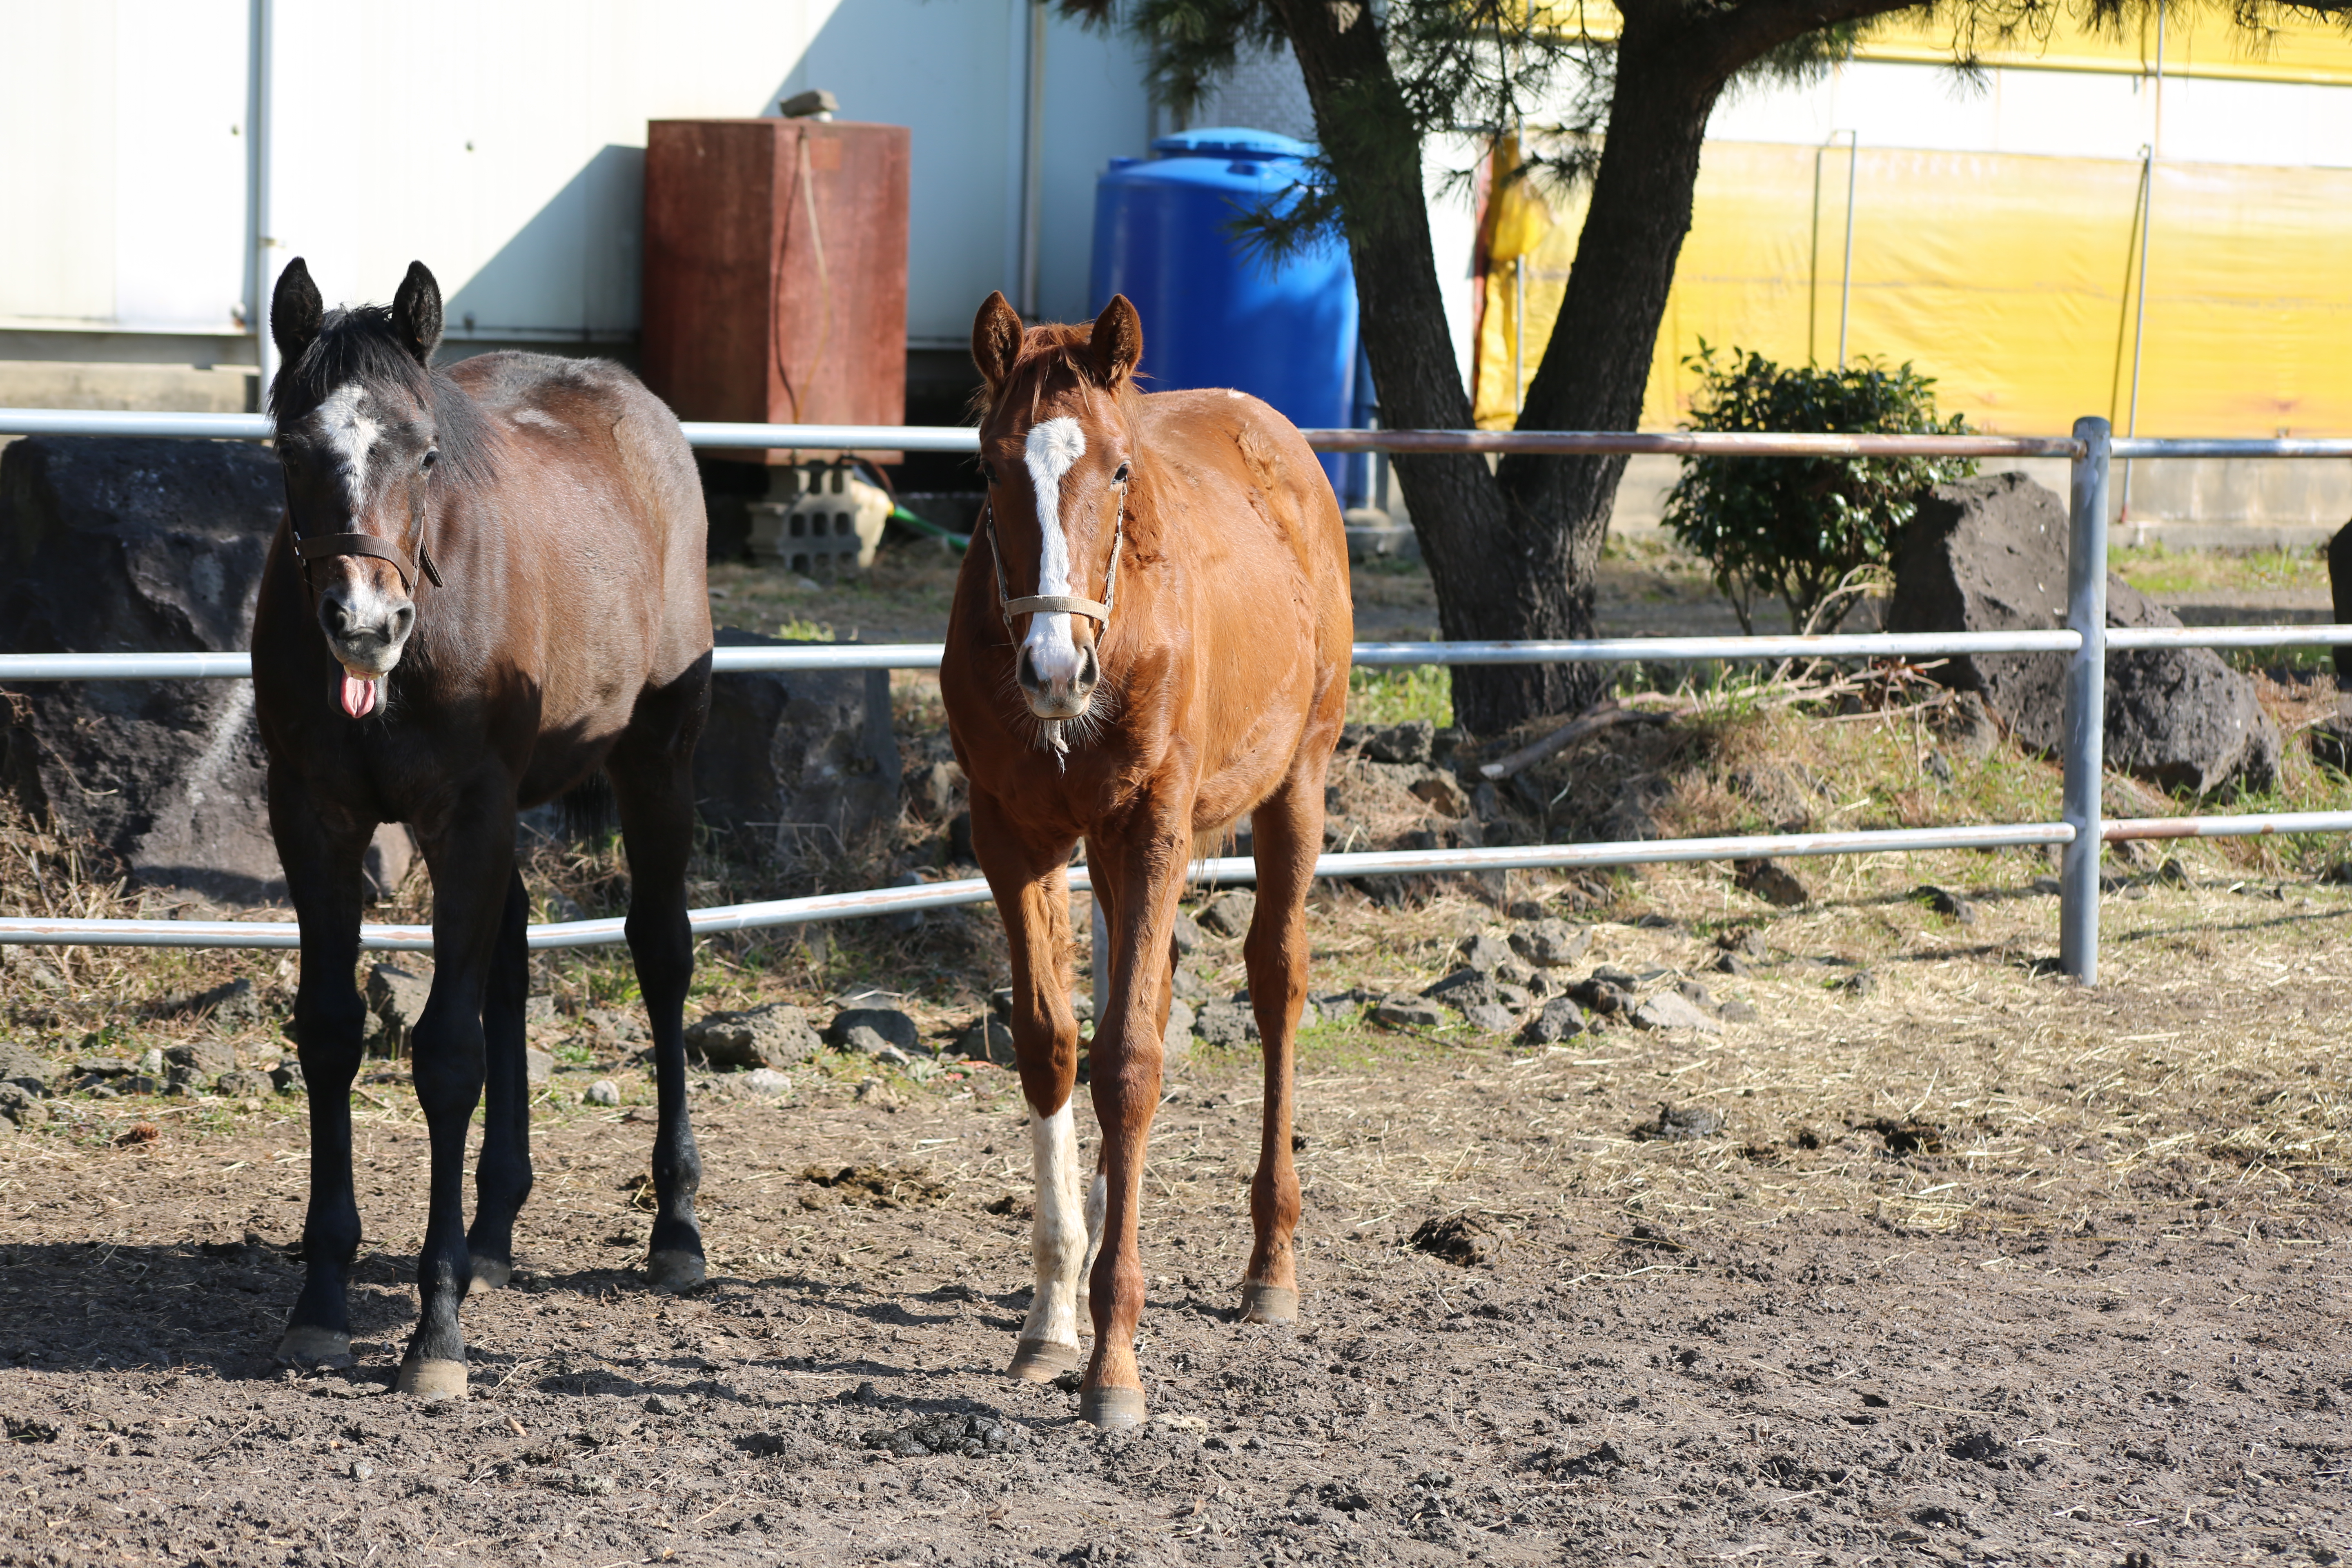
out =
[[[247,646],[285,510],[254,442],[28,437],[0,454],[0,654]],[[113,853],[132,882],[285,898],[242,679],[21,682],[0,708],[0,790]],[[407,832],[369,872],[407,870]],[[393,865],[397,860],[397,865]]]

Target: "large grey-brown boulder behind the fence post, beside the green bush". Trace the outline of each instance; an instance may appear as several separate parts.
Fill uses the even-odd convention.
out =
[[[1896,548],[1889,632],[2006,632],[2065,625],[2065,503],[2018,473],[1943,484],[1922,498]],[[2180,625],[2107,576],[2107,625]],[[2065,741],[2065,654],[1973,654],[1945,661],[1947,686],[1976,691],[2030,750]],[[2166,790],[2265,790],[2279,771],[2279,726],[2253,679],[2211,649],[2107,656],[2105,764]]]

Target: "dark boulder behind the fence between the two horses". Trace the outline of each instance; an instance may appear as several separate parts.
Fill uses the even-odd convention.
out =
[[[793,646],[720,628],[717,646]],[[710,682],[694,752],[703,820],[788,860],[821,860],[898,820],[889,670],[781,670]]]

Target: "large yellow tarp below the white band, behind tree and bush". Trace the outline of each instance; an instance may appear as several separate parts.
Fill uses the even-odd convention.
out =
[[[1705,339],[1837,362],[1844,148],[1710,141],[1658,331],[1644,428],[1689,411]],[[1510,167],[1498,160],[1498,167]],[[2131,402],[2140,165],[1863,148],[1849,355],[1912,360],[1938,404],[2004,433],[2117,430]],[[1526,376],[1550,341],[1578,212],[1524,183],[1489,205],[1477,421],[1515,418],[1517,275]],[[2143,435],[2352,435],[2352,172],[2154,169]]]

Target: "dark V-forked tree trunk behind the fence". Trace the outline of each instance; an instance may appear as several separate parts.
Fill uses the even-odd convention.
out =
[[[1331,153],[1364,350],[1381,418],[1397,428],[1470,425],[1454,362],[1423,197],[1421,141],[1369,7],[1272,0]],[[1609,141],[1569,299],[1529,388],[1522,430],[1632,430],[1675,259],[1691,226],[1698,143],[1719,80],[1677,80],[1675,28],[1644,38],[1628,16]],[[1573,346],[1562,353],[1562,348]],[[1449,639],[1592,635],[1592,576],[1625,458],[1399,456]],[[1456,722],[1501,733],[1569,712],[1606,686],[1595,665],[1461,665]]]

